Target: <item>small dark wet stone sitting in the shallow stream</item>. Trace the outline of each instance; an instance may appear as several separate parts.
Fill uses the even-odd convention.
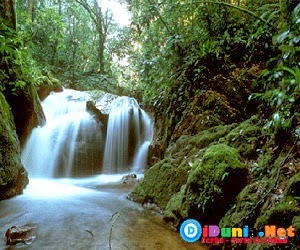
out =
[[[12,226],[5,233],[7,238],[6,245],[31,244],[36,238],[35,229],[36,227],[31,225]]]

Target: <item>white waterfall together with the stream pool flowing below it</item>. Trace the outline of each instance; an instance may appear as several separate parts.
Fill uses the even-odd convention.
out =
[[[122,176],[145,170],[153,136],[148,114],[135,99],[119,97],[108,103],[106,124],[86,110],[89,99],[64,90],[43,101],[47,122],[22,151],[29,185],[0,202],[0,249],[203,249],[126,199],[133,183]],[[34,227],[28,245],[6,246],[6,230],[23,225]]]

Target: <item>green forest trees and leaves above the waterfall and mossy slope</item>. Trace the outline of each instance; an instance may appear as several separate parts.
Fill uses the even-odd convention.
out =
[[[251,69],[255,81],[243,98],[267,107],[266,127],[274,132],[295,124],[297,1],[121,3],[129,26],[96,0],[16,1],[13,24],[1,23],[1,89],[41,84],[44,75],[77,89],[126,87],[158,112],[170,103],[181,112],[196,93],[212,88],[216,75],[241,71],[236,79],[245,78]]]

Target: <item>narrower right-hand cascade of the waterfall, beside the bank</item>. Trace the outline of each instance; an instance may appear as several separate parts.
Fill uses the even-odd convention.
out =
[[[135,99],[126,96],[115,99],[107,125],[104,173],[141,172],[152,134],[151,119]]]

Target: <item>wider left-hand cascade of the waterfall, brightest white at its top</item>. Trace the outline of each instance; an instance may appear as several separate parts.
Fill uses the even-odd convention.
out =
[[[86,111],[89,96],[64,90],[42,103],[46,124],[35,128],[22,152],[34,177],[71,177],[99,173],[103,140],[101,124]]]

